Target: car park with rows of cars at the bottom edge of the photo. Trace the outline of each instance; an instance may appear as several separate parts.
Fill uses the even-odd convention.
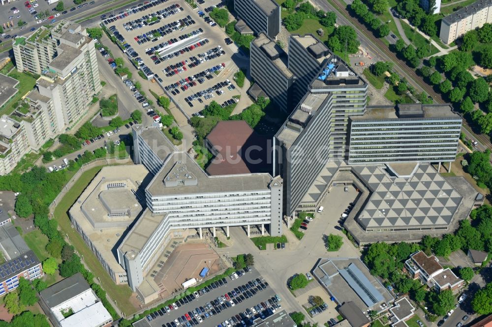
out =
[[[206,293],[202,289],[199,291],[201,295],[197,294],[198,298],[191,294],[188,300],[193,299],[192,301],[176,303],[176,307],[168,307],[162,316],[157,314],[155,318],[146,318],[138,326],[184,326],[188,322],[191,326],[203,324],[230,327],[238,324],[242,326],[241,320],[246,326],[251,326],[253,319],[264,319],[281,310],[281,299],[275,298],[275,291],[254,268],[238,278],[226,277],[223,280],[227,284],[218,282],[217,286],[214,285],[215,288],[210,287],[210,291]],[[185,320],[184,324],[180,323],[180,318]]]

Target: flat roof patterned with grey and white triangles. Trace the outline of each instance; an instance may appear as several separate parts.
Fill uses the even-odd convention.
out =
[[[462,196],[431,166],[419,164],[410,177],[391,176],[384,165],[353,170],[372,191],[357,220],[364,228],[448,226]]]

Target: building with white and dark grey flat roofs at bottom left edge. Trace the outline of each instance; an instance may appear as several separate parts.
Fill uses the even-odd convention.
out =
[[[113,322],[81,273],[39,292],[39,298],[55,327],[107,327]]]

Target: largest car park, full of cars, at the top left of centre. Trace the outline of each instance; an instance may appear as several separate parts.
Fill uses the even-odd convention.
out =
[[[144,74],[188,117],[213,100],[223,107],[237,103],[241,92],[232,77],[238,67],[230,48],[235,46],[226,44],[227,35],[206,21],[201,8],[192,10],[185,2],[156,0],[147,6],[103,20]]]

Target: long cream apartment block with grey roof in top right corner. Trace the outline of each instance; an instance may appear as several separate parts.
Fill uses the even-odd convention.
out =
[[[492,0],[478,0],[441,20],[439,38],[450,44],[467,31],[492,23]]]

